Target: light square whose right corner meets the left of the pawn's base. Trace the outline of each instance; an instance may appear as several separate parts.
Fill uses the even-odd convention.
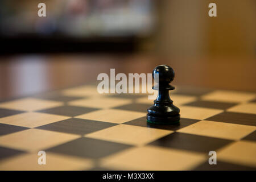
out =
[[[118,109],[97,110],[87,114],[78,115],[76,118],[90,119],[103,122],[124,123],[133,119],[141,118],[145,113]]]

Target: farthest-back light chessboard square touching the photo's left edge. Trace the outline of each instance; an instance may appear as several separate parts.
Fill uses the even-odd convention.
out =
[[[35,111],[40,109],[57,107],[60,105],[63,105],[63,102],[46,101],[46,100],[40,100],[38,98],[22,98],[19,100],[2,102],[0,104],[0,108],[22,110],[22,111]]]

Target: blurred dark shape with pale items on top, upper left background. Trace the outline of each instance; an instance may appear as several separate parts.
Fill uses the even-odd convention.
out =
[[[0,53],[133,52],[154,31],[152,0],[1,0]]]

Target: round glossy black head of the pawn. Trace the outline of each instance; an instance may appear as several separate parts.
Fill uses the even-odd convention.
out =
[[[174,69],[167,65],[158,65],[153,70],[152,76],[155,78],[155,74],[158,74],[159,83],[169,84],[174,80]]]

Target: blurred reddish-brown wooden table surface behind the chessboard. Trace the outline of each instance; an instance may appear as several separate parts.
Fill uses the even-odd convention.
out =
[[[256,90],[255,57],[167,57],[156,55],[0,56],[0,100],[97,83],[99,73],[151,73],[159,64],[175,70],[174,85]]]

